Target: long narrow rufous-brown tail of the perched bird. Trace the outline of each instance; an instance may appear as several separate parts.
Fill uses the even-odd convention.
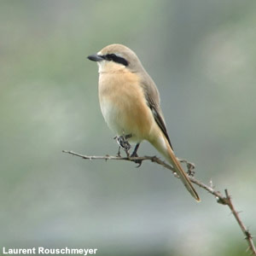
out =
[[[174,171],[177,172],[178,177],[180,177],[184,186],[189,190],[189,193],[195,198],[195,200],[201,201],[199,195],[197,195],[192,183],[190,182],[189,177],[186,172],[183,171],[183,167],[173,153],[170,143],[168,143],[166,137],[161,136],[157,141],[152,142],[152,144],[154,145],[154,148],[156,148],[160,154],[163,154],[166,160],[173,166]]]

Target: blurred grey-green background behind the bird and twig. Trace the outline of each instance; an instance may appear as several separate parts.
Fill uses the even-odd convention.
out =
[[[96,247],[97,255],[247,255],[227,207],[149,162],[115,154],[87,55],[133,49],[158,85],[178,157],[229,189],[256,234],[256,3],[0,2],[0,247]],[[157,154],[143,143],[139,154]]]

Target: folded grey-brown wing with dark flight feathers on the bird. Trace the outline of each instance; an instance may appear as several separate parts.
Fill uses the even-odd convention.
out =
[[[144,76],[142,79],[142,86],[143,86],[144,96],[148,103],[148,108],[150,108],[151,112],[153,113],[154,120],[156,121],[157,125],[159,125],[161,131],[164,133],[168,143],[172,148],[172,143],[166,130],[166,122],[165,122],[163,113],[160,109],[159,92],[157,90],[156,85],[154,84],[154,81],[149,77],[147,73],[146,73],[146,76]]]

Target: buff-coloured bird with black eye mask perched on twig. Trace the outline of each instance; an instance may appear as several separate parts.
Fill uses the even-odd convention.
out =
[[[140,143],[151,143],[172,165],[195,200],[201,201],[173,152],[160,108],[159,90],[136,53],[123,44],[109,44],[87,58],[97,62],[102,115],[116,133],[119,145],[130,149],[130,143],[126,142],[136,143],[131,156],[137,156]]]

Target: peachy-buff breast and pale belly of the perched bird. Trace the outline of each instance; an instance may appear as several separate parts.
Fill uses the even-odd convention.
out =
[[[154,117],[134,73],[103,73],[99,78],[102,115],[118,135],[132,134],[134,141],[147,139]]]

